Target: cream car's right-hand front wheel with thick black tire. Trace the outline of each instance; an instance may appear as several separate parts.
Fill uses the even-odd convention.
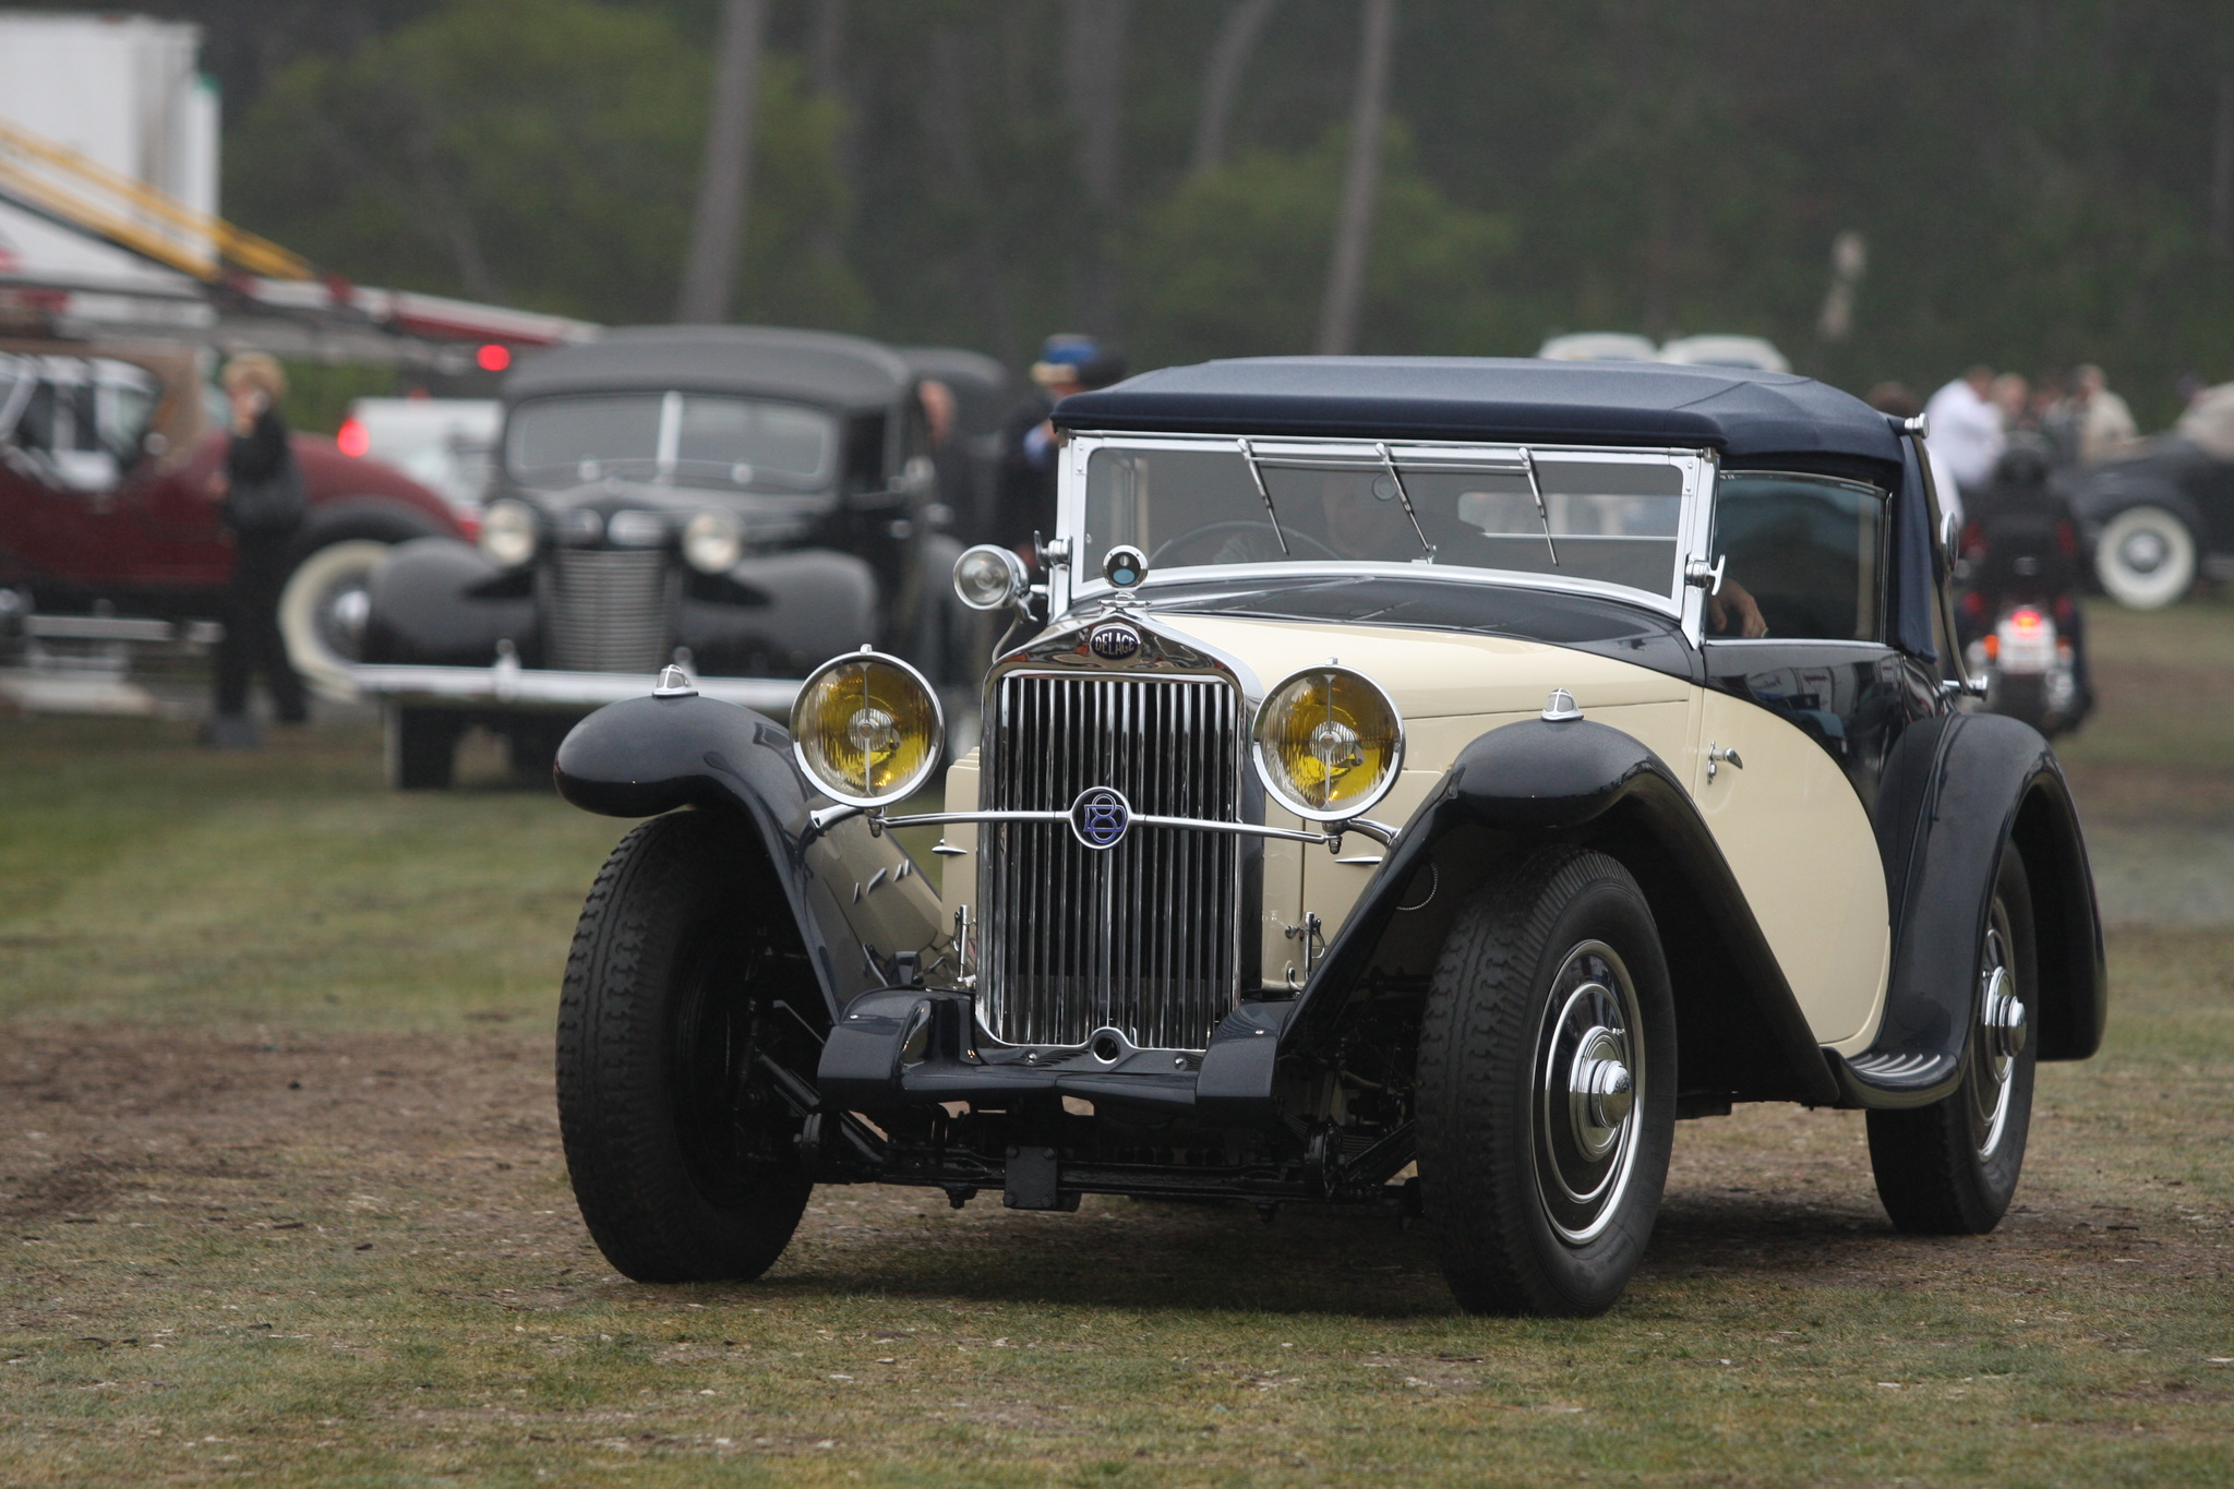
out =
[[[1629,1072],[1626,1112],[1593,1054]],[[1611,1308],[1673,1141],[1676,1007],[1644,893],[1604,853],[1528,853],[1459,911],[1419,1031],[1421,1192],[1459,1306]]]

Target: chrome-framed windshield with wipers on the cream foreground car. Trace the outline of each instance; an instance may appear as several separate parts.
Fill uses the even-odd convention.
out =
[[[1086,574],[1128,542],[1151,574],[1432,560],[1662,598],[1676,589],[1684,471],[1667,455],[1381,449],[1097,449],[1086,467]]]

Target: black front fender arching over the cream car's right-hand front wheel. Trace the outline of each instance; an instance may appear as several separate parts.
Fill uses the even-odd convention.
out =
[[[1515,839],[1646,837],[1696,895],[1727,955],[1729,980],[1743,989],[1767,1047],[1787,1067],[1765,1085],[1810,1105],[1839,1101],[1814,1031],[1691,795],[1642,741],[1586,719],[1508,723],[1459,752],[1298,996],[1280,1031],[1280,1065],[1331,1043],[1334,1022],[1372,967],[1414,873],[1452,837],[1481,830]],[[1271,1096],[1273,1063],[1260,1069],[1267,1089],[1249,1092],[1256,1103]],[[1233,1098],[1240,1096],[1235,1089]],[[1209,1092],[1200,1103],[1213,1105]]]

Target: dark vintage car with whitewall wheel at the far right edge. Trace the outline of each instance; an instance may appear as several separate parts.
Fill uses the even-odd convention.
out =
[[[2196,578],[2234,578],[2234,384],[2207,391],[2171,433],[2066,478],[2102,592],[2160,609]]]

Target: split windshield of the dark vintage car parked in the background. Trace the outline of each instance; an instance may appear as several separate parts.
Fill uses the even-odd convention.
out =
[[[815,491],[831,484],[836,451],[827,413],[706,393],[538,397],[505,431],[505,462],[538,487],[621,475]]]

